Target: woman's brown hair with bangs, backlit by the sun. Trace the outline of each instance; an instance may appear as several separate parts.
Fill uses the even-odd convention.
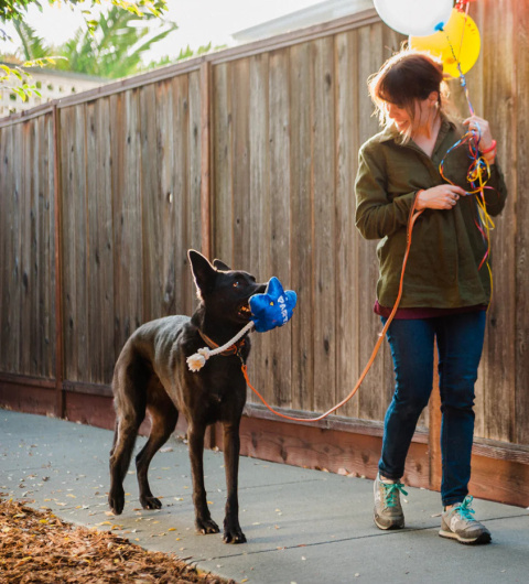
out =
[[[438,108],[444,111],[449,91],[443,79],[443,65],[431,55],[409,48],[395,54],[367,82],[380,123],[392,126],[387,104],[406,109],[413,122],[415,101],[427,99],[432,91],[438,91]]]

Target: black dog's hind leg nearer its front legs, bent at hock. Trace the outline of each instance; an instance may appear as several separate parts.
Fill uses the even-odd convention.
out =
[[[160,499],[153,497],[149,486],[149,465],[176,428],[179,411],[155,376],[152,376],[149,383],[147,409],[151,418],[151,432],[145,445],[136,457],[140,502],[143,509],[160,509],[162,504]]]

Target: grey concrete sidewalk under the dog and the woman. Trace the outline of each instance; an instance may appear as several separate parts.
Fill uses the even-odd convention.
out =
[[[137,451],[145,439],[139,437]],[[529,581],[529,512],[475,500],[493,543],[465,547],[438,536],[438,493],[409,488],[407,528],[373,523],[373,480],[242,457],[240,523],[248,538],[226,545],[193,524],[187,447],[171,439],[152,461],[152,491],[163,508],[140,508],[133,466],[127,502],[107,515],[112,432],[0,410],[0,493],[34,499],[66,521],[112,529],[149,550],[174,552],[199,569],[252,584],[350,582],[500,583]],[[206,451],[212,516],[222,526],[226,486],[222,453]]]

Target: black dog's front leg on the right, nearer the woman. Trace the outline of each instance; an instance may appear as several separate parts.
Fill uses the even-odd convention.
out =
[[[238,499],[238,474],[239,474],[239,424],[224,424],[224,462],[226,468],[226,486],[228,496],[226,499],[226,516],[224,519],[225,543],[245,543],[246,537],[239,526],[239,499]]]

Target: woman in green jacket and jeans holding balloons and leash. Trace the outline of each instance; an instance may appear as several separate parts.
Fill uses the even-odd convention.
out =
[[[458,123],[446,113],[442,65],[425,54],[402,51],[391,57],[370,78],[369,93],[385,129],[359,152],[356,225],[365,238],[381,239],[375,312],[382,323],[397,299],[410,214],[422,212],[413,227],[402,299],[387,334],[396,389],[385,418],[375,523],[380,529],[404,526],[399,495],[406,491],[400,479],[432,391],[436,338],[444,506],[440,536],[486,543],[490,532],[472,516],[468,482],[474,383],[490,274],[484,261],[487,242],[477,227],[476,196],[468,194],[473,191],[467,181],[468,145],[447,151],[468,129],[474,133],[490,170],[484,196],[486,210],[494,216],[501,212],[507,194],[496,164],[496,142],[486,120],[472,116]],[[446,180],[440,173],[441,162]]]

